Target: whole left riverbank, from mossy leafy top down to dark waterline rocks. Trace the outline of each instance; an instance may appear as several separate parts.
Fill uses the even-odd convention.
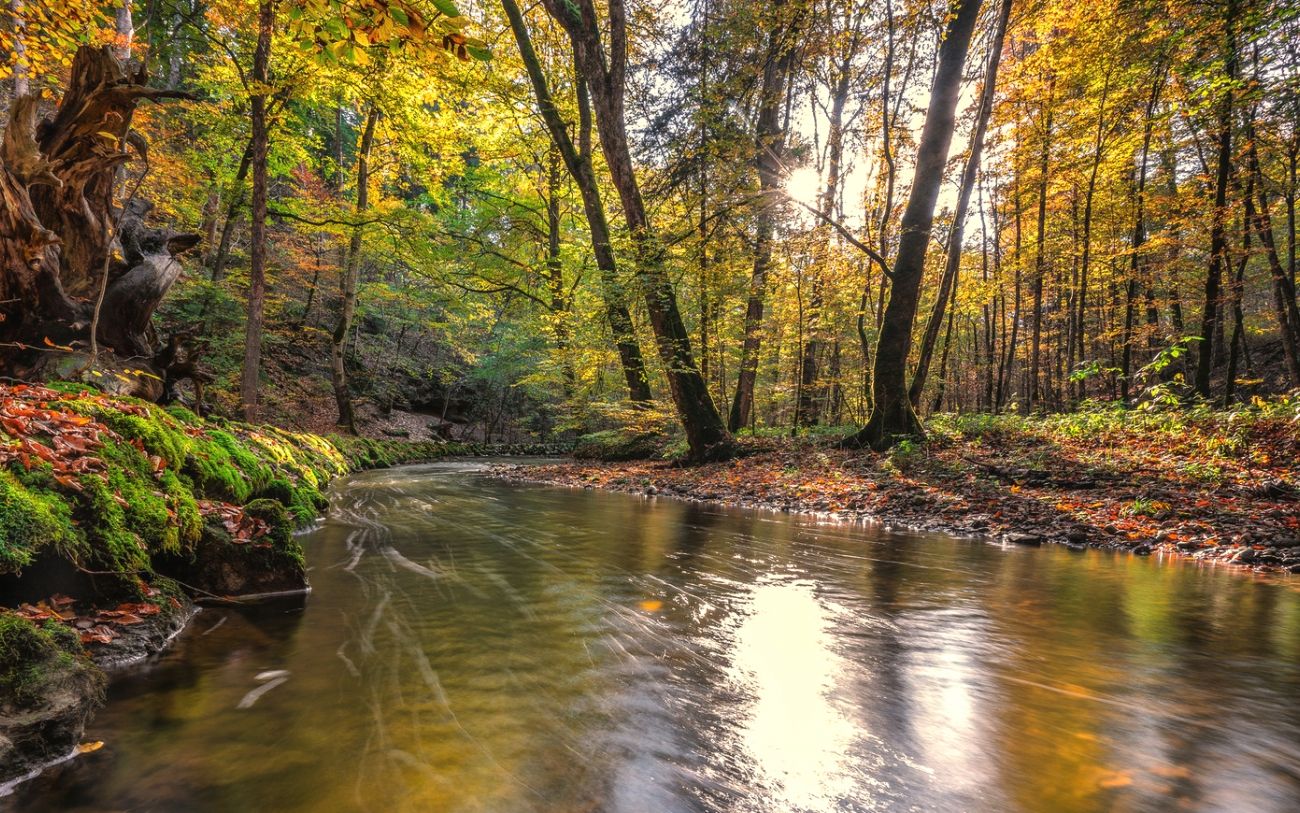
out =
[[[194,601],[309,589],[294,531],[332,479],[491,451],[0,385],[0,783],[72,753],[103,670],[164,648]]]

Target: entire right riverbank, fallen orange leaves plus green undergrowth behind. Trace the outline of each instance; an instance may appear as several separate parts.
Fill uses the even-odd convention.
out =
[[[875,519],[1008,544],[1156,552],[1300,572],[1292,405],[1234,412],[1104,408],[937,416],[923,444],[748,438],[733,460],[498,467],[503,479]]]

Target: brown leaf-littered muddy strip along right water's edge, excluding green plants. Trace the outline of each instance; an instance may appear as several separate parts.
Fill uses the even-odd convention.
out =
[[[1300,502],[1282,480],[1196,488],[1072,466],[1032,468],[1006,450],[876,455],[812,444],[751,445],[698,467],[663,460],[498,466],[516,483],[599,488],[719,505],[810,513],[1018,545],[1063,544],[1187,555],[1300,572]],[[1056,473],[1048,473],[1054,471]]]

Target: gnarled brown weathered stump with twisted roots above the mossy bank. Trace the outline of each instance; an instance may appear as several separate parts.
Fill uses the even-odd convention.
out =
[[[114,191],[133,153],[147,157],[131,130],[136,105],[176,98],[190,96],[150,87],[143,66],[133,72],[108,47],[82,47],[52,114],[38,120],[35,98],[14,100],[0,142],[0,375],[66,377],[94,363],[98,379],[108,371],[133,394],[162,395],[178,354],[150,321],[182,273],[177,256],[200,235],[147,226],[152,206],[133,199],[124,211]]]

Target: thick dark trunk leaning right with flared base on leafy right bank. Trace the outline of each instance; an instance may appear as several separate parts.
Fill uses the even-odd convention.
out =
[[[957,96],[971,34],[979,18],[980,0],[959,0],[939,47],[939,68],[926,111],[926,124],[916,147],[916,172],[907,208],[900,225],[898,255],[894,259],[880,338],[876,342],[874,403],[871,418],[861,432],[845,440],[848,445],[889,447],[900,434],[920,434],[920,420],[907,394],[907,354],[916,300],[926,265],[926,248],[935,220],[935,203],[944,181],[948,148],[957,125]]]

